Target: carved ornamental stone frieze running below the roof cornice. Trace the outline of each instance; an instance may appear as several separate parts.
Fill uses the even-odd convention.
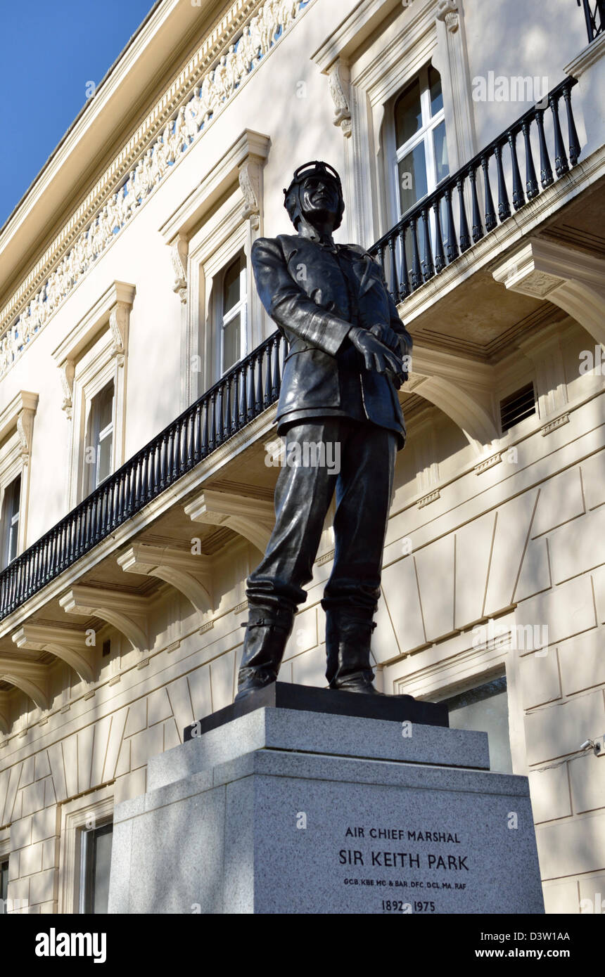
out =
[[[121,187],[110,193],[88,227],[72,242],[69,252],[22,308],[19,318],[3,333],[0,338],[0,377],[22,355],[73,287],[103,255],[114,236],[165,179],[181,154],[199,138],[199,133],[216,112],[236,94],[245,77],[281,40],[308,2],[266,0],[243,26],[238,40],[229,45],[214,68],[206,71],[201,81],[194,85],[187,102],[166,121],[161,134],[146,149]],[[245,176],[243,181],[246,182]],[[242,191],[246,207],[250,207],[254,217],[256,211],[247,184],[246,189],[242,186]],[[179,291],[182,287],[185,286],[179,285]],[[17,297],[9,308],[13,305],[17,306]],[[113,326],[111,328],[113,330]],[[117,334],[115,341],[115,353],[121,355]]]

